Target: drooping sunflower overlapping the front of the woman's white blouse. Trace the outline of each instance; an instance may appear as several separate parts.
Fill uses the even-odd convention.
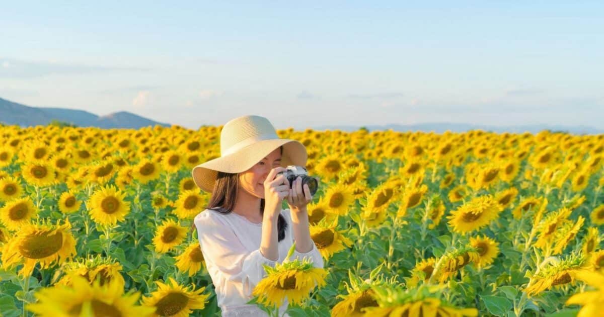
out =
[[[295,244],[288,252],[289,258],[293,254]],[[284,300],[300,305],[309,297],[310,290],[315,286],[323,287],[326,284],[327,270],[314,267],[312,262],[305,258],[304,261],[283,261],[275,263],[275,267],[263,265],[265,278],[260,280],[252,290],[252,295],[257,296],[258,302],[269,307],[280,307]]]

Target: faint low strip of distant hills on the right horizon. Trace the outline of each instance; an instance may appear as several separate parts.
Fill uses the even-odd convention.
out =
[[[495,133],[503,133],[503,132],[538,133],[539,131],[542,131],[542,130],[568,132],[568,133],[573,133],[573,134],[577,134],[577,135],[604,133],[603,129],[596,129],[594,127],[588,127],[588,126],[560,126],[560,125],[547,125],[547,124],[533,124],[533,125],[519,125],[519,126],[512,126],[512,125],[509,125],[509,126],[485,126],[485,125],[479,125],[479,124],[443,122],[443,123],[417,123],[417,124],[385,124],[385,125],[379,125],[379,126],[378,125],[365,125],[364,127],[366,127],[367,130],[369,130],[369,131],[392,129],[393,131],[399,131],[399,132],[407,132],[407,131],[431,132],[431,131],[434,131],[434,133],[443,133],[447,130],[449,130],[451,132],[466,132],[469,130],[477,130],[477,129],[495,132]],[[327,130],[327,129],[329,129],[329,130],[339,129],[339,130],[342,130],[345,132],[353,132],[360,128],[361,128],[361,126],[330,125],[330,126],[314,127],[313,129],[320,130],[320,131]]]

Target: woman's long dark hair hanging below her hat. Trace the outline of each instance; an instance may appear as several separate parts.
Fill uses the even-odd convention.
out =
[[[283,146],[279,147],[283,154]],[[239,187],[239,175],[237,173],[225,173],[218,171],[214,190],[210,202],[205,207],[206,209],[217,211],[221,214],[230,214],[235,208],[237,200],[237,188]],[[265,200],[260,199],[260,214],[264,214]],[[280,214],[277,218],[278,241],[285,239],[285,230],[288,228],[288,223]]]

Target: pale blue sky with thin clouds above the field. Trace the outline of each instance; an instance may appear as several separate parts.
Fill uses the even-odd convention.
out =
[[[602,1],[0,2],[0,97],[197,129],[604,128]]]

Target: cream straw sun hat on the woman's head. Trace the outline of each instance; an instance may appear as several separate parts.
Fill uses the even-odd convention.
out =
[[[283,146],[281,166],[306,166],[308,153],[304,144],[279,138],[267,118],[258,115],[234,118],[225,123],[220,132],[220,157],[193,167],[193,181],[211,193],[218,171],[246,171],[280,146]]]

